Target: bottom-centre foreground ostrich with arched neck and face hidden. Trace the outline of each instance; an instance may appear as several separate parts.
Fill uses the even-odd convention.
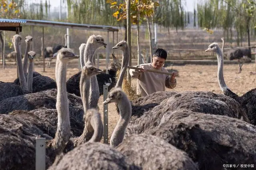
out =
[[[57,157],[48,170],[140,170],[126,159],[126,157],[109,145],[100,143],[103,135],[103,124],[100,113],[96,109],[88,109],[85,115],[88,130],[94,131],[93,137],[65,155]]]

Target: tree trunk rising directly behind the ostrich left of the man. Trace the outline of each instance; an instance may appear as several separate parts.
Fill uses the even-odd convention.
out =
[[[128,43],[128,47],[129,47],[129,53],[130,53],[130,57],[129,57],[129,66],[132,66],[132,43],[131,43],[131,12],[130,12],[130,8],[131,8],[131,0],[127,0],[126,1],[126,18],[127,18],[127,43]],[[127,69],[127,79],[128,81],[132,80],[132,77],[129,74],[129,69]]]

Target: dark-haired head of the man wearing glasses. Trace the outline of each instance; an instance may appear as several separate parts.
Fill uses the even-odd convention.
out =
[[[167,58],[167,52],[164,49],[158,48],[153,55],[152,65],[154,68],[161,68]]]

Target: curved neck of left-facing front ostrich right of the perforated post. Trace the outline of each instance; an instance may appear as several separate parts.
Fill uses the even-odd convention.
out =
[[[110,146],[112,147],[116,147],[117,145],[122,143],[124,139],[125,129],[132,115],[130,101],[127,97],[124,96],[122,101],[117,102],[117,105],[120,110],[120,118],[110,138]]]

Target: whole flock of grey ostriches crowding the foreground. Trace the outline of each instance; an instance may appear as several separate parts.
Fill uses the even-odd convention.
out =
[[[19,78],[0,82],[1,170],[34,170],[37,137],[46,138],[50,170],[256,168],[256,90],[238,96],[226,86],[217,43],[206,51],[217,55],[224,94],[156,92],[130,101],[121,88],[130,57],[126,41],[112,47],[123,56],[122,64],[116,59],[110,64],[109,74],[95,67],[95,51],[106,47],[102,36],[92,35],[82,43],[80,56],[69,48],[59,49],[53,55],[56,81],[33,72],[32,41],[31,36],[25,38],[22,63],[22,37],[13,36]],[[66,81],[67,63],[79,57],[82,71]],[[117,69],[120,76],[115,81]],[[116,103],[120,116],[110,145],[100,142],[98,100],[104,84],[111,90],[103,104]]]

